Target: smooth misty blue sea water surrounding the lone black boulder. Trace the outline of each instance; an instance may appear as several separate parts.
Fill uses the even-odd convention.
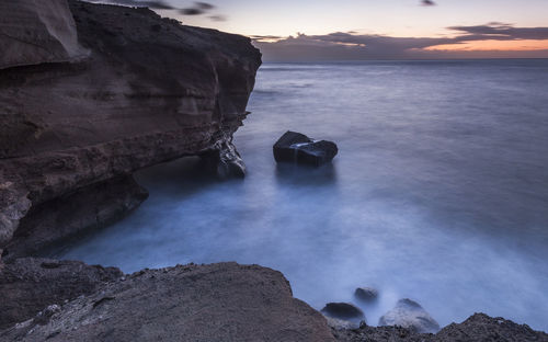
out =
[[[410,297],[443,326],[483,311],[548,330],[548,60],[269,64],[249,109],[244,181],[192,158],[146,170],[150,198],[61,256],[259,263],[316,308],[377,287],[373,324]],[[287,129],[340,155],[277,167]]]

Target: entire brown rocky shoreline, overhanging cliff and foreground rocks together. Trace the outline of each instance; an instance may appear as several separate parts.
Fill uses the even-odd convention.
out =
[[[261,54],[148,9],[21,0],[0,16],[0,341],[548,341],[481,314],[436,334],[345,326],[259,265],[126,275],[37,258],[138,207],[142,168],[201,156],[242,176],[232,135]]]

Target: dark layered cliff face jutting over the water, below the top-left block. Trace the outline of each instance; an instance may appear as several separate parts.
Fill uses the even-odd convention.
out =
[[[122,215],[145,197],[127,180],[138,169],[212,150],[227,170],[240,162],[231,136],[261,64],[249,38],[183,26],[147,9],[68,4],[85,59],[0,70],[0,249],[16,250],[14,236],[73,228],[53,233],[57,239],[88,228],[78,218],[39,229],[33,223],[52,203],[62,213],[59,203],[78,201],[98,183],[122,180],[125,193],[136,194],[112,198]],[[9,44],[8,29],[14,30],[0,21],[0,45]],[[87,219],[95,226],[112,218],[98,205],[89,203],[96,213]]]

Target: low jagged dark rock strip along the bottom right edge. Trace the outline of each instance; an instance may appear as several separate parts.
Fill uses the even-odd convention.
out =
[[[463,323],[453,323],[436,334],[418,333],[402,327],[361,327],[335,330],[340,342],[547,342],[548,334],[502,318],[476,314]]]

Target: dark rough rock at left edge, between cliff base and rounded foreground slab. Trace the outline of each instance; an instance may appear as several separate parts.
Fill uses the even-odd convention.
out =
[[[19,259],[0,265],[0,329],[34,317],[49,305],[89,295],[123,273],[77,261]]]

